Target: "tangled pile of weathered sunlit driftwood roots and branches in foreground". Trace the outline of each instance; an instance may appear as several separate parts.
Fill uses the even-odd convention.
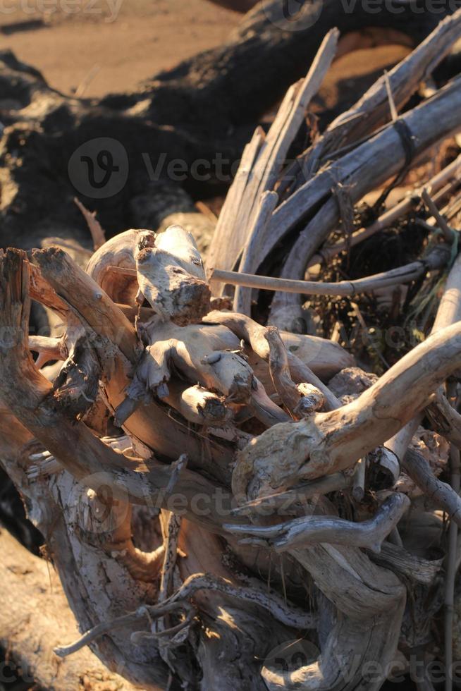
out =
[[[46,653],[59,673],[90,645],[127,688],[374,690],[417,661],[430,689],[434,659],[451,687],[461,178],[460,159],[431,175],[427,161],[461,129],[460,79],[428,93],[460,32],[458,11],[286,164],[329,32],[247,145],[206,265],[180,226],[101,244],[94,219],[86,271],[54,247],[1,254],[1,463],[87,631]],[[417,190],[383,211],[412,169]],[[355,204],[376,189],[361,227]],[[410,264],[305,281],[415,215]],[[302,295],[395,307],[403,285],[436,316],[381,377],[303,333]],[[30,333],[35,303],[51,336]]]

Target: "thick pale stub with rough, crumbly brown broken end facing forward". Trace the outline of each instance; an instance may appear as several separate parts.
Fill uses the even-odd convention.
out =
[[[135,259],[140,292],[161,319],[184,326],[209,312],[211,293],[191,233],[169,226],[154,246],[141,237]]]

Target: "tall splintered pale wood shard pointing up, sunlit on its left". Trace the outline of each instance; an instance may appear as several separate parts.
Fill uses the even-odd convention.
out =
[[[337,29],[328,32],[305,79],[294,84],[285,94],[267,135],[264,137],[259,129],[254,133],[221,209],[209,248],[208,266],[233,269],[246,243],[250,243],[254,250],[252,236],[264,235],[264,226],[277,202],[276,195],[266,197],[263,202],[264,192],[273,190],[288,149],[305,118],[307,106],[333,61],[338,36]],[[257,218],[259,215],[260,219]],[[220,287],[214,286],[215,294],[220,293]],[[237,302],[240,304],[240,300]]]

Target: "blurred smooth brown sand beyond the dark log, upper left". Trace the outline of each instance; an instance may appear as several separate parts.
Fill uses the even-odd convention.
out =
[[[222,43],[240,17],[207,0],[0,0],[0,49],[98,97]]]

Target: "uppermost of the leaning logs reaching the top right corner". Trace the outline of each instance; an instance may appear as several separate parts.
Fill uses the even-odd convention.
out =
[[[393,119],[388,92],[392,94],[395,108],[400,111],[417,91],[421,82],[430,77],[432,71],[448,54],[459,37],[460,27],[460,11],[444,18],[410,55],[391,71],[383,74],[357,103],[333,120],[325,133],[299,157],[298,179],[302,183],[309,180],[328,155],[334,155],[340,147],[359,142],[362,137],[369,136],[379,126]],[[293,170],[288,169],[288,180],[292,174]]]

